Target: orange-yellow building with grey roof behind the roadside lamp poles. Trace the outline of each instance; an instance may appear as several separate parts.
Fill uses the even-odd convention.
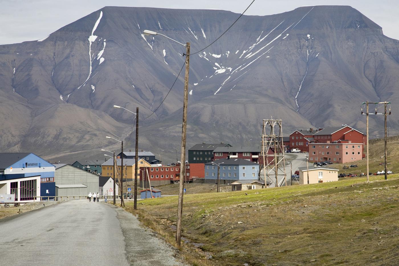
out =
[[[117,169],[116,171],[118,171],[119,175],[120,175],[120,165],[121,163],[121,159],[117,159]],[[135,159],[123,159],[123,165],[125,166],[125,169],[123,170],[123,178],[129,180],[132,179],[134,180],[134,165],[135,165],[136,161]],[[103,163],[101,165],[101,170],[102,173],[101,175],[103,177],[113,177],[114,174],[114,162],[113,159],[109,159],[108,161],[106,161],[105,163]],[[138,160],[138,166],[137,166],[137,171],[140,172],[140,167],[151,167],[151,165],[145,161],[144,159],[140,159]],[[115,173],[115,175],[117,175]],[[118,177],[118,175],[117,175]],[[138,173],[138,178],[140,178],[140,173]]]

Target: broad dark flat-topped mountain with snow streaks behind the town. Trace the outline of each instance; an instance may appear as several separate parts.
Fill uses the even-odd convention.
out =
[[[139,107],[140,149],[164,149],[164,158],[175,158],[184,70],[168,91],[185,48],[143,30],[190,42],[187,147],[257,145],[262,119],[270,117],[283,120],[284,135],[341,124],[364,131],[363,101],[399,103],[399,41],[358,10],[308,6],[244,15],[198,52],[238,16],[104,7],[41,40],[0,46],[0,147],[73,161],[119,149],[105,139],[112,135],[129,139],[125,149],[133,149],[135,116],[113,108],[120,105]],[[397,133],[398,118],[388,121],[391,135]],[[370,134],[383,134],[383,116],[370,116]]]

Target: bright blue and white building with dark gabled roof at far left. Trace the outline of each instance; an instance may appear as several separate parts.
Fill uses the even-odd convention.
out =
[[[0,153],[0,194],[16,202],[55,196],[55,167],[34,153]],[[47,199],[47,198],[45,198]]]

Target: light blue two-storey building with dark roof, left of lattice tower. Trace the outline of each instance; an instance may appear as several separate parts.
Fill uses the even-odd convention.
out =
[[[219,159],[205,163],[205,182],[217,183],[217,165],[220,164],[220,184],[230,184],[239,180],[257,180],[259,164],[245,159]]]

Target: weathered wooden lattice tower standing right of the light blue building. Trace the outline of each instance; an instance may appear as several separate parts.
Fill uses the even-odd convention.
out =
[[[282,186],[286,181],[285,173],[285,155],[284,155],[284,143],[282,140],[282,120],[263,119],[262,129],[262,151],[261,156],[263,157],[263,181],[265,185],[268,181],[275,183],[275,187]],[[269,129],[268,131],[267,129]],[[277,134],[276,134],[277,132]],[[268,151],[273,151],[273,154],[269,154]],[[282,176],[279,182],[278,177]]]

